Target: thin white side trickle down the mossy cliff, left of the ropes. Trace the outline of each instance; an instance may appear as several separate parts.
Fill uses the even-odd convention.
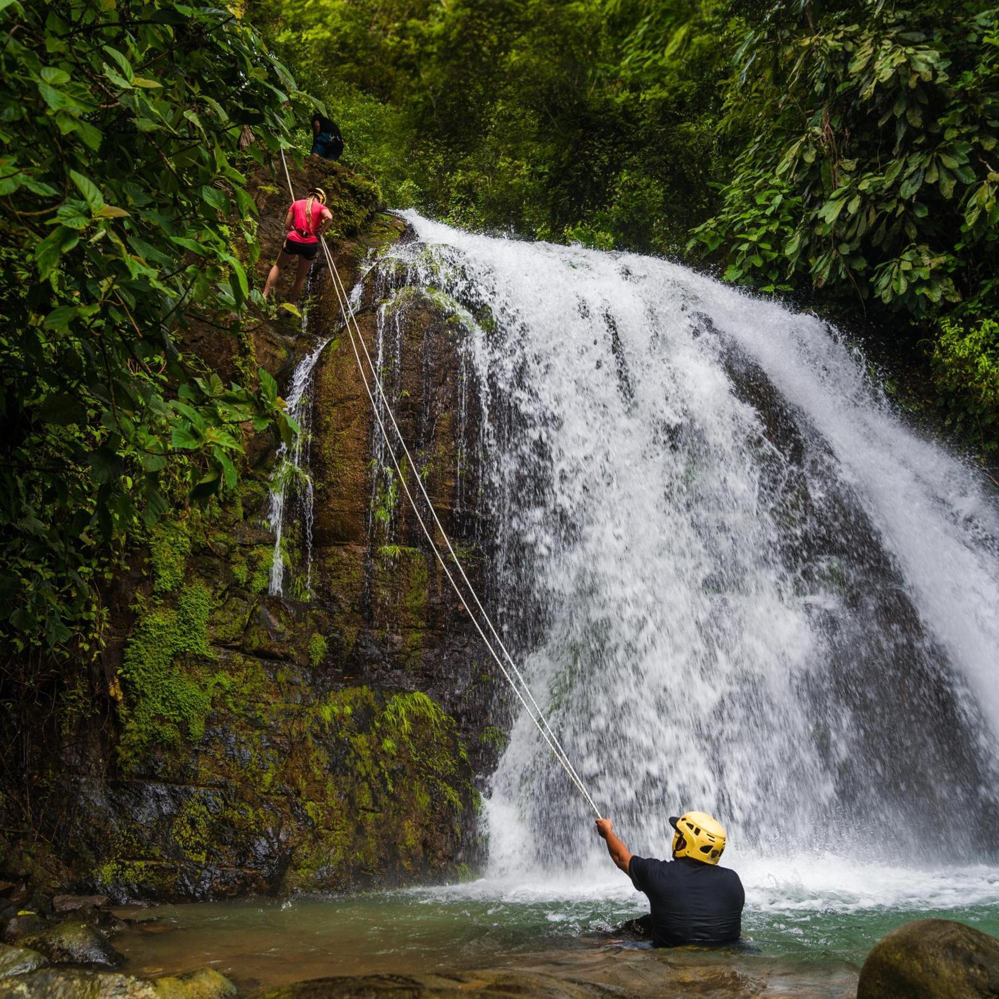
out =
[[[308,310],[302,318],[306,329]],[[271,581],[268,592],[281,596],[285,580],[284,529],[288,501],[297,498],[301,506],[303,573],[302,595],[308,595],[312,585],[312,536],[313,536],[313,480],[309,470],[312,445],[312,386],[313,370],[329,338],[322,341],[311,354],[306,355],[295,368],[292,384],[285,400],[288,414],[298,423],[301,433],[291,448],[282,443],[278,449],[277,463],[271,478],[271,502],[268,519],[274,531],[274,554],[271,560]]]

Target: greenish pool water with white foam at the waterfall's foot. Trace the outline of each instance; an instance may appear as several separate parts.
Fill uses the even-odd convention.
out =
[[[735,866],[733,864],[733,866]],[[944,918],[999,935],[999,870],[901,870],[815,857],[786,866],[746,859],[744,941],[752,966],[859,966],[872,944],[913,919]],[[612,872],[611,872],[612,873]],[[839,886],[830,880],[838,878]],[[337,974],[420,973],[498,965],[559,967],[643,945],[614,933],[646,911],[621,876],[468,884],[340,897],[240,900],[131,910],[116,945],[147,974],[211,965],[245,986]],[[769,966],[768,966],[769,967]],[[842,986],[819,994],[840,995]]]

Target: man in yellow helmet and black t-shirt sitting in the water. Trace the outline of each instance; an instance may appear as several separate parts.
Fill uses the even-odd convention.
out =
[[[718,867],[725,830],[704,812],[672,817],[673,859],[638,857],[614,835],[608,818],[596,820],[610,859],[648,896],[656,947],[719,944],[742,931],[745,893],[738,874]]]

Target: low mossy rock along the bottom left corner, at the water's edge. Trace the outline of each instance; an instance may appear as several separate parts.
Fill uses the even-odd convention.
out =
[[[236,994],[236,986],[211,968],[157,979],[46,968],[0,981],[0,999],[229,999]]]

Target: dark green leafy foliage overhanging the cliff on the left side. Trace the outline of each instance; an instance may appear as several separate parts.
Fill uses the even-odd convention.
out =
[[[297,91],[228,10],[0,0],[0,21],[0,619],[26,661],[100,645],[115,559],[235,486],[245,426],[294,433],[245,349],[245,170]],[[193,324],[244,345],[238,383]]]

